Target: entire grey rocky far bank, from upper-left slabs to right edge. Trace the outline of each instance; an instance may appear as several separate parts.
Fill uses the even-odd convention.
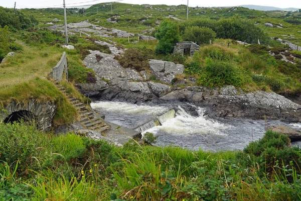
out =
[[[97,60],[97,55],[101,59]],[[184,87],[174,87],[172,81],[184,71],[184,66],[167,61],[150,60],[150,75],[159,82],[149,81],[145,71],[123,68],[113,55],[90,51],[84,64],[97,74],[96,83],[80,84],[86,96],[102,100],[129,103],[183,102],[208,108],[209,117],[276,119],[301,122],[301,106],[274,92],[244,92],[234,86],[207,88],[194,85],[196,80],[181,80]],[[186,83],[189,83],[185,86]],[[196,112],[191,112],[196,115]]]

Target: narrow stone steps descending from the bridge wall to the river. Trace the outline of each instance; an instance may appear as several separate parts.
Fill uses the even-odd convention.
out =
[[[55,85],[68,98],[71,105],[76,108],[80,115],[80,123],[83,127],[100,133],[105,133],[111,129],[111,126],[105,124],[102,118],[95,117],[94,113],[89,111],[76,97],[68,94],[60,83],[55,82]]]

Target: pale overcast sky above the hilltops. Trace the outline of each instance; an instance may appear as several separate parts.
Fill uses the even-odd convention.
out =
[[[15,0],[17,2],[17,8],[40,8],[40,7],[49,7],[49,6],[56,6],[62,5],[63,0]],[[0,0],[0,6],[7,7],[7,8],[14,8],[14,0]],[[72,6],[82,6],[82,5],[90,5],[90,4],[98,4],[98,3],[105,3],[110,2],[108,0],[65,0],[66,5],[72,4]],[[113,2],[116,0],[113,0]],[[82,4],[75,4],[81,3]],[[181,5],[187,4],[187,0],[123,0],[120,3],[127,3],[127,4],[150,4],[150,5],[158,5],[158,4],[165,4],[165,5]],[[282,1],[282,0],[210,0],[210,1],[200,1],[200,0],[190,0],[189,6],[191,7],[223,7],[223,6],[239,6],[239,5],[259,5],[259,6],[272,6],[278,8],[301,8],[301,0],[289,0],[289,1]],[[71,5],[67,5],[71,6]]]

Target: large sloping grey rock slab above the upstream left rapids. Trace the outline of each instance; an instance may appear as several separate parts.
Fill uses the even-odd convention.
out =
[[[130,103],[144,102],[156,98],[146,82],[141,82],[141,75],[133,69],[124,69],[113,55],[99,51],[90,51],[83,61],[86,67],[92,68],[97,76],[108,80],[108,83],[97,81],[96,86],[82,84],[84,94],[98,96],[107,100],[124,100]],[[97,56],[99,55],[99,56]],[[100,60],[96,58],[101,58]]]

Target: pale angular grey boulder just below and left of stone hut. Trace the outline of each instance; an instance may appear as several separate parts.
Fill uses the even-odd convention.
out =
[[[152,70],[157,79],[164,83],[171,84],[175,75],[184,72],[184,65],[151,59],[149,61],[149,69]]]

